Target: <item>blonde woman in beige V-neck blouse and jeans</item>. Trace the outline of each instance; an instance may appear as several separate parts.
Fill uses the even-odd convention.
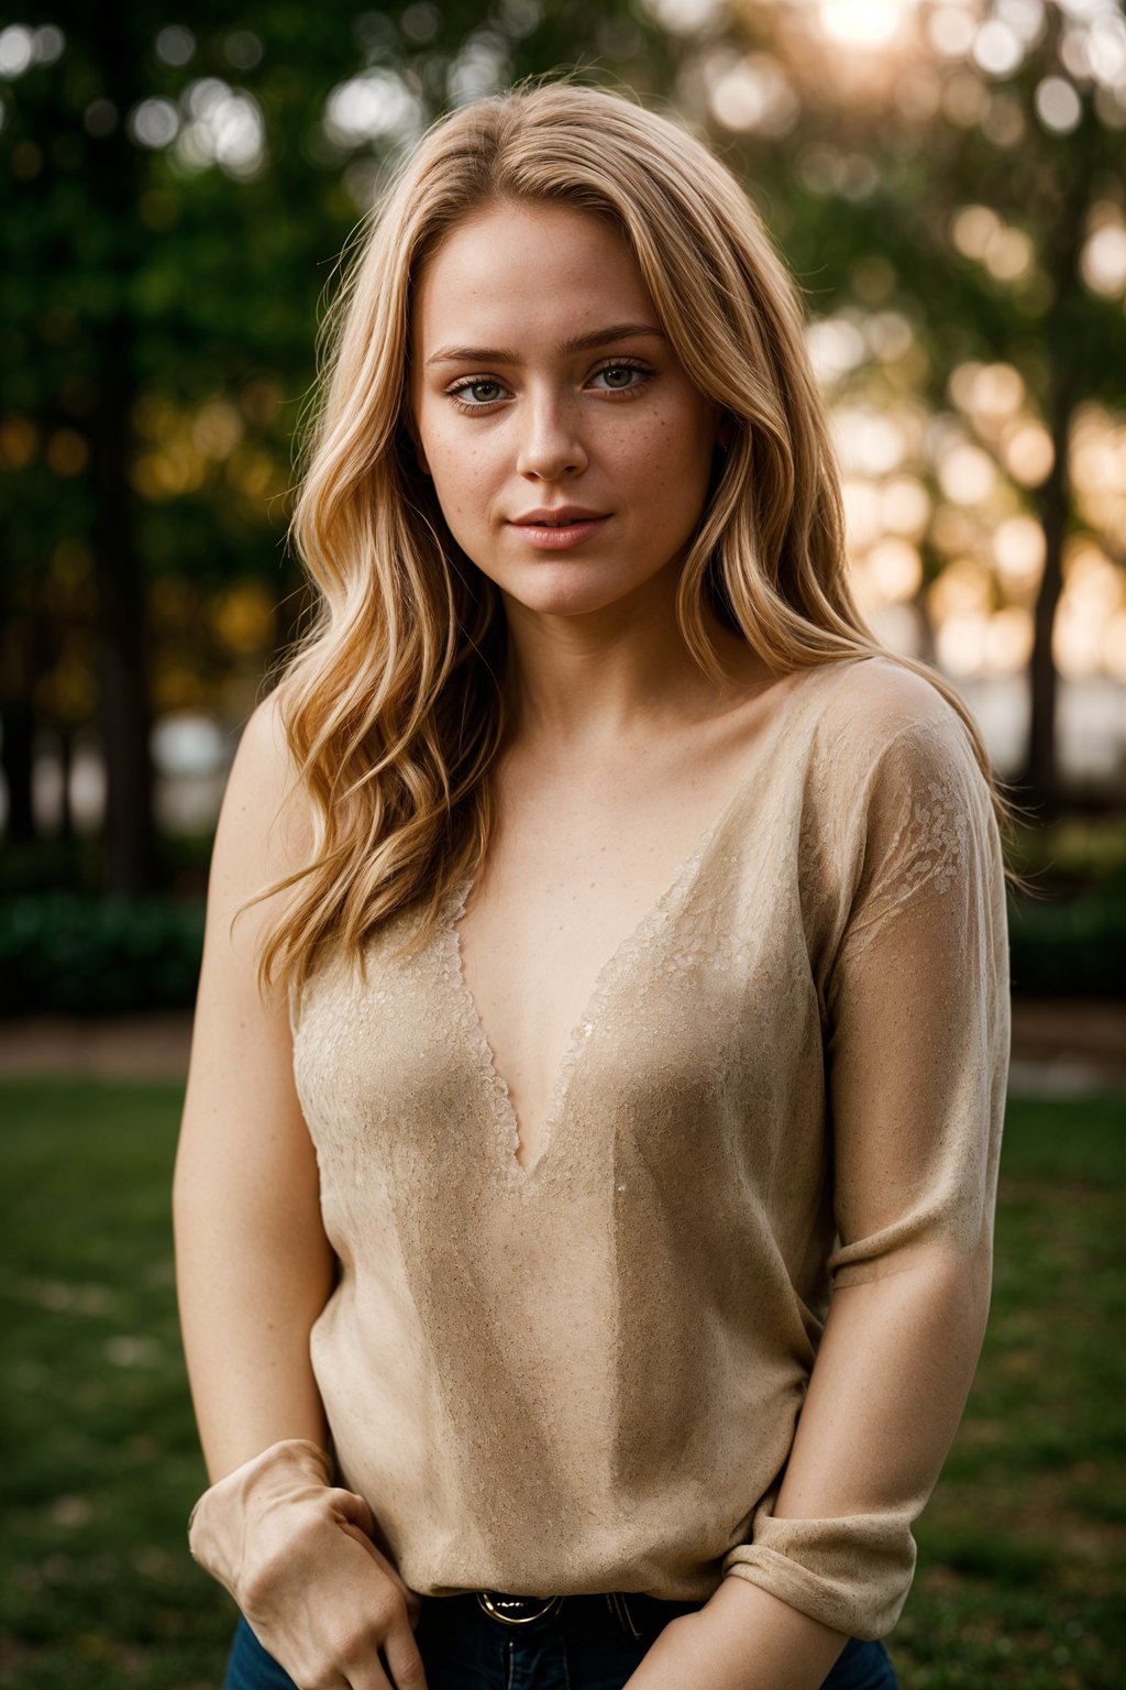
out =
[[[793,284],[549,81],[422,140],[324,377],[176,1171],[228,1690],[891,1687],[1011,806],[856,610]]]

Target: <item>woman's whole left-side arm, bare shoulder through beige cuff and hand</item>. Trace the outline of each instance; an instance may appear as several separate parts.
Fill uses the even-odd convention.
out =
[[[235,755],[214,838],[176,1158],[176,1279],[211,1487],[191,1546],[300,1690],[424,1690],[419,1597],[371,1541],[368,1504],[334,1486],[309,1357],[336,1278],[317,1163],[294,1087],[284,990],[258,989],[273,899],[307,860],[275,698]],[[287,894],[275,894],[285,897]],[[382,1651],[382,1655],[380,1655]]]

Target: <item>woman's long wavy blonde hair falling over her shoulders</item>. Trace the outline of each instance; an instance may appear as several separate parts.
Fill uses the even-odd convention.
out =
[[[409,943],[424,940],[493,833],[503,605],[452,541],[415,460],[409,345],[422,265],[495,201],[609,218],[687,375],[734,421],[677,592],[701,668],[719,679],[706,605],[773,669],[891,657],[966,723],[1001,826],[1016,808],[954,688],[886,651],[853,600],[804,308],[746,193],[702,142],[625,93],[566,78],[523,84],[429,130],[360,225],[322,323],[292,515],[316,613],[277,684],[312,852],[248,901],[292,889],[263,940],[263,987],[280,979],[300,990],[329,940],[363,968],[365,940],[403,909],[419,914]]]

